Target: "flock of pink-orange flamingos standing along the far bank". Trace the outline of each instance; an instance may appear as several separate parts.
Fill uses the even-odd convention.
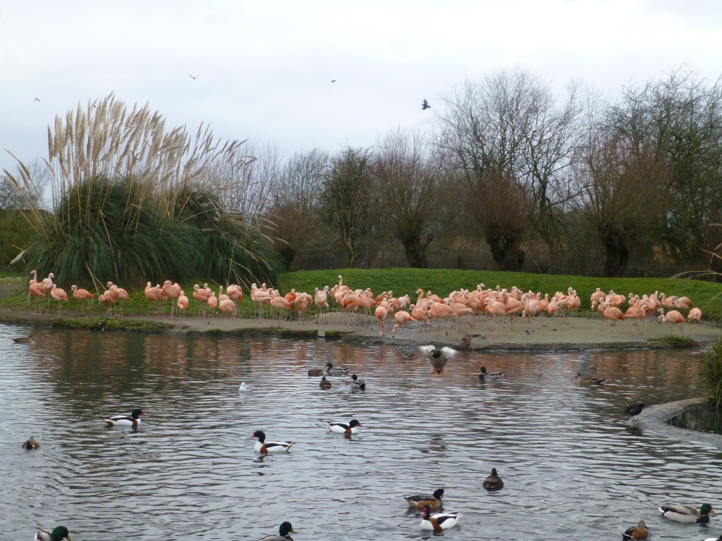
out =
[[[40,281],[37,271],[33,270],[31,276],[28,301],[30,297],[35,299],[35,312],[42,312],[44,307],[49,307],[46,303],[54,299],[58,302],[60,317],[64,304],[71,299],[81,302],[81,309],[85,311],[92,307],[96,298],[88,289],[79,288],[75,284],[71,286],[72,294],[69,298],[54,282],[53,273]],[[106,307],[106,317],[123,315],[123,304],[130,299],[128,291],[113,282],[106,283],[106,288],[102,294],[97,294],[100,304]],[[186,296],[181,285],[170,280],[155,286],[148,281],[144,294],[155,305],[156,315],[165,315],[168,309],[170,317],[186,317],[191,307],[191,299]],[[381,337],[387,330],[386,320],[389,320],[392,337],[412,324],[420,330],[430,329],[432,325],[456,325],[461,333],[462,325],[474,327],[479,317],[484,319],[486,330],[498,335],[502,325],[508,324],[510,330],[513,330],[516,319],[526,320],[526,325],[531,325],[537,317],[575,315],[581,306],[581,299],[572,287],[567,288],[566,292],[541,294],[539,291],[522,291],[516,286],[506,289],[497,285],[492,289],[483,283],[479,283],[476,289],[459,289],[443,297],[419,288],[412,302],[408,294],[394,296],[393,291],[373,294],[371,289],[353,290],[343,283],[342,275],[339,275],[339,282],[332,287],[316,287],[314,294],[292,289],[283,295],[265,283],[261,286],[253,283],[249,296],[256,305],[257,317],[277,321],[279,327],[286,320],[295,320],[303,325],[308,320],[310,308],[315,307],[316,324],[327,323],[328,312],[335,310],[346,316],[348,327],[355,327],[359,321],[368,327],[373,325],[375,318]],[[238,306],[243,302],[243,288],[238,284],[230,284],[225,289],[219,286],[216,294],[208,283],[202,287],[196,283],[191,297],[197,302],[199,316],[233,318],[238,317]],[[697,324],[702,318],[701,310],[694,307],[687,296],[666,296],[658,291],[641,296],[632,293],[625,296],[597,288],[590,296],[590,304],[592,315],[598,314],[604,322],[609,322],[601,329],[605,334],[616,332],[617,322],[624,320],[631,320],[635,329],[643,333],[654,317],[659,323],[665,324]],[[684,335],[682,328],[678,328]],[[529,330],[526,332],[529,333]]]

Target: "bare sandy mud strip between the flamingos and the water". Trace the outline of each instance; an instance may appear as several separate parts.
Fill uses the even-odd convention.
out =
[[[102,309],[96,307],[93,315],[83,315],[78,310],[66,307],[62,318],[51,309],[42,315],[32,313],[31,308],[0,307],[0,321],[21,325],[61,326],[62,320],[73,317],[87,318],[89,326],[103,320]],[[523,320],[520,317],[505,318],[498,322],[476,317],[473,323],[464,319],[461,322],[435,322],[428,327],[420,323],[404,325],[391,335],[391,322],[386,322],[383,336],[379,335],[379,324],[373,316],[355,316],[331,312],[327,322],[316,322],[309,318],[303,322],[295,320],[258,320],[258,318],[241,317],[160,317],[160,316],[115,316],[118,322],[144,321],[165,324],[165,332],[172,333],[274,333],[295,335],[300,337],[326,337],[360,343],[436,343],[455,348],[473,350],[488,349],[523,349],[523,350],[582,350],[590,348],[661,348],[669,347],[669,340],[664,338],[690,338],[700,345],[722,339],[722,327],[710,323],[671,324],[632,321],[617,322],[610,327],[609,322],[601,318],[585,317],[536,317]],[[462,346],[462,338],[469,338],[470,345]],[[660,341],[661,340],[661,341]],[[690,346],[690,343],[686,344]]]

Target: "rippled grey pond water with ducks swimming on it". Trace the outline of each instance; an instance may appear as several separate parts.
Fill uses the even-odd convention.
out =
[[[324,340],[32,330],[1,326],[0,531],[69,528],[74,541],[415,540],[402,496],[445,488],[464,516],[448,539],[619,539],[645,519],[653,539],[716,537],[662,519],[663,503],[722,507],[719,449],[640,431],[624,408],[700,395],[697,353],[461,352],[431,376],[414,348]],[[365,379],[309,368],[350,366]],[[505,377],[481,383],[479,366]],[[582,371],[606,384],[580,387]],[[240,382],[253,392],[241,395]],[[143,408],[141,427],[103,418]],[[357,418],[360,434],[325,421]],[[295,441],[259,457],[251,434]],[[38,451],[22,441],[35,436]],[[505,488],[487,493],[496,467]],[[722,509],[719,509],[722,511]]]

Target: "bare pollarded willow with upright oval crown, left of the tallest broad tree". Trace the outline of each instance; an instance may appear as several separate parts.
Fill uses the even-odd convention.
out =
[[[389,224],[412,268],[428,266],[427,250],[449,221],[443,159],[434,150],[421,133],[398,129],[380,141],[374,157],[376,216]]]

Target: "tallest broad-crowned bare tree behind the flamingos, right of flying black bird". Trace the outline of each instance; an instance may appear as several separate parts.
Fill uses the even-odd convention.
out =
[[[445,100],[440,146],[466,184],[471,216],[499,268],[520,271],[530,231],[555,245],[579,144],[578,85],[563,102],[528,71],[467,81]]]

